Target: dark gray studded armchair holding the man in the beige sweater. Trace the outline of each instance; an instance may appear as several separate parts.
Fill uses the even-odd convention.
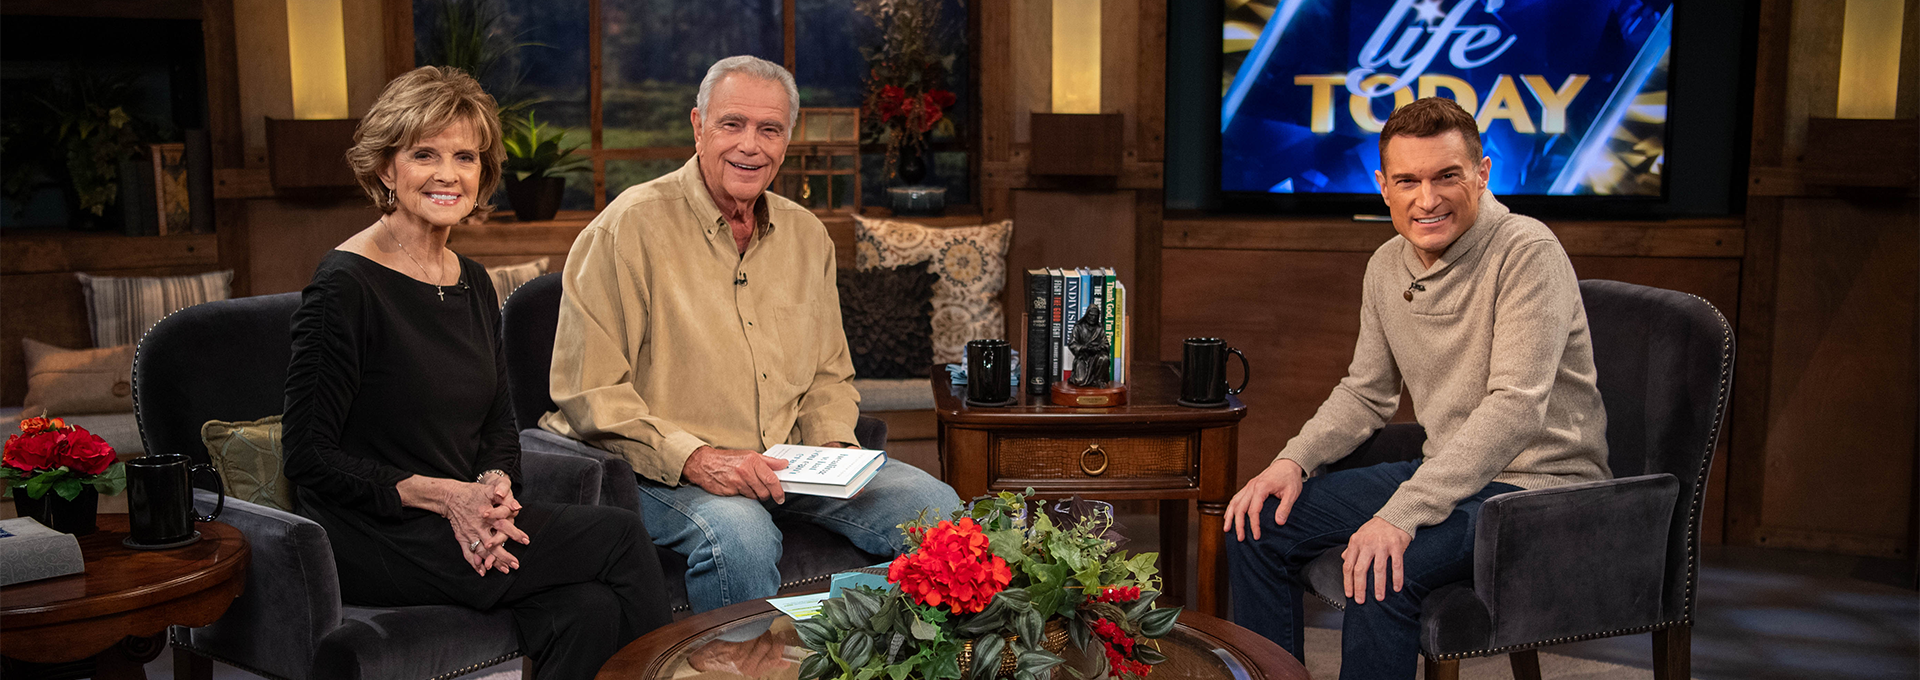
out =
[[[1653,632],[1653,674],[1692,665],[1699,503],[1734,376],[1734,328],[1697,296],[1582,280],[1611,480],[1500,494],[1475,528],[1473,580],[1421,611],[1428,678],[1459,659],[1507,653],[1538,678],[1544,645]],[[1421,457],[1419,425],[1388,425],[1329,469]],[[1342,607],[1340,549],[1308,565],[1313,592]]]

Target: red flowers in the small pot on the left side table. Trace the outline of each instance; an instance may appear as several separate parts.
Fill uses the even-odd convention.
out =
[[[98,434],[61,419],[33,417],[21,419],[19,434],[6,438],[0,482],[8,498],[23,488],[33,499],[52,490],[71,501],[84,486],[119,494],[127,488],[127,467],[113,461],[113,448]]]

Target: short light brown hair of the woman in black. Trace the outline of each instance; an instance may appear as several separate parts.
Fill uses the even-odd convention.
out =
[[[353,177],[372,198],[374,207],[380,207],[380,213],[392,213],[397,206],[390,198],[394,192],[380,181],[380,171],[394,161],[394,154],[401,148],[419,144],[422,138],[463,121],[472,125],[480,136],[480,194],[474,196],[474,211],[467,217],[482,221],[493,211],[493,204],[488,200],[499,186],[507,148],[499,138],[499,113],[493,108],[493,96],[486,94],[467,71],[422,65],[388,83],[380,98],[361,117],[359,129],[353,131],[348,167],[353,167]]]

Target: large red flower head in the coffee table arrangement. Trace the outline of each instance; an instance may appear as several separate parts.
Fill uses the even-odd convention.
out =
[[[1006,590],[1014,571],[995,555],[987,532],[973,519],[941,521],[922,528],[920,549],[893,559],[887,582],[899,584],[914,601],[947,605],[956,615],[987,609],[993,595]]]

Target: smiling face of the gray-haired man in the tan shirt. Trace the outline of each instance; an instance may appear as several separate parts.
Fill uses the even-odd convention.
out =
[[[787,158],[787,90],[774,81],[733,73],[712,88],[707,119],[693,109],[693,148],[701,179],[720,211],[743,211],[774,184]]]

